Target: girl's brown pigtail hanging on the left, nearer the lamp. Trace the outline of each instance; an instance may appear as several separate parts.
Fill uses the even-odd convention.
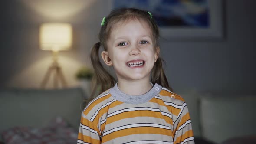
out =
[[[91,98],[94,97],[98,88],[100,88],[100,93],[105,90],[115,86],[115,78],[110,75],[107,70],[103,67],[99,59],[99,48],[101,43],[95,43],[91,50],[91,62],[94,69],[94,75],[92,77],[92,94]]]

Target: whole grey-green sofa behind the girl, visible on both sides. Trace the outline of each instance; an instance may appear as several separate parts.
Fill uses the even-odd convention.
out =
[[[196,144],[256,144],[255,95],[213,95],[193,90],[177,94],[187,102]],[[0,141],[5,138],[6,143],[14,144],[15,139],[26,137],[34,138],[31,144],[47,144],[59,138],[62,144],[75,144],[85,98],[81,88],[1,90]],[[45,138],[50,136],[50,140]]]

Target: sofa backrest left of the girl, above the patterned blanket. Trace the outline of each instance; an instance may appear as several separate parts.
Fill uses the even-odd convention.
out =
[[[0,91],[0,133],[15,126],[42,128],[56,116],[78,130],[83,100],[80,88]]]

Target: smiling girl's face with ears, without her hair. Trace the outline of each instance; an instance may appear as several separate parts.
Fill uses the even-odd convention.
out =
[[[102,58],[113,66],[118,81],[150,80],[151,69],[158,58],[150,27],[144,20],[127,20],[114,27],[107,41],[108,51]]]

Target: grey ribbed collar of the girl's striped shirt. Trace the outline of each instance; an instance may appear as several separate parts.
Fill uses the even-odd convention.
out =
[[[147,93],[143,95],[127,95],[120,91],[120,89],[117,86],[117,83],[113,88],[110,89],[111,95],[118,101],[127,103],[127,104],[142,104],[145,102],[148,102],[154,96],[158,95],[161,91],[162,86],[158,85],[157,83],[149,90]]]

